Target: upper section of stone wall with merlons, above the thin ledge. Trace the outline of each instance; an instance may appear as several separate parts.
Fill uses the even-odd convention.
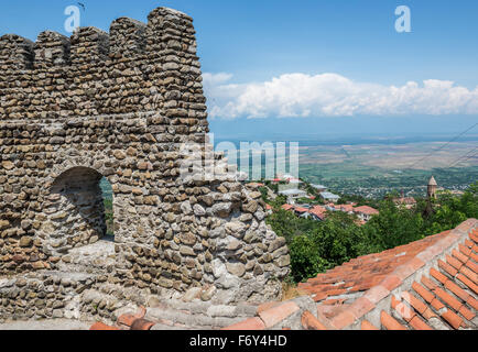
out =
[[[119,18],[109,33],[45,31],[35,43],[3,35],[0,67],[0,120],[148,111],[206,118],[193,19],[172,9],[153,10],[148,23]]]

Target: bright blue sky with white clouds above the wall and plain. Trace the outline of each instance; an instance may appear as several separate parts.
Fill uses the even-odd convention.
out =
[[[423,127],[459,132],[478,122],[475,0],[80,2],[86,6],[82,25],[105,31],[122,15],[145,22],[160,6],[192,15],[217,133],[264,124],[258,119],[270,121],[278,133],[296,123],[305,133],[319,121],[330,130],[357,132],[363,125],[378,133]],[[76,3],[3,4],[0,35],[35,40],[44,30],[67,34],[63,12]],[[398,6],[411,9],[411,33],[394,29]]]

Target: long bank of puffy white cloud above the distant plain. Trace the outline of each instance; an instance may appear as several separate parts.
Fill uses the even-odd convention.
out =
[[[337,74],[286,74],[239,85],[231,79],[226,73],[204,75],[211,118],[478,113],[478,87],[469,90],[448,80],[395,87],[358,82]]]

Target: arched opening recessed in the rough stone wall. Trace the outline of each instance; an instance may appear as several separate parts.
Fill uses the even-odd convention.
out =
[[[45,219],[40,229],[52,254],[91,244],[106,234],[101,188],[104,176],[94,168],[74,166],[47,184]]]

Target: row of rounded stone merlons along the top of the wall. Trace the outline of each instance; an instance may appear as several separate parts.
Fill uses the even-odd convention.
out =
[[[195,47],[193,19],[167,8],[153,10],[148,24],[129,18],[119,18],[109,33],[97,28],[79,28],[68,38],[59,33],[42,32],[36,42],[15,34],[0,38],[0,66],[10,74],[25,69],[42,69],[68,65],[130,58],[139,59],[157,50]],[[181,44],[180,44],[181,43]],[[187,51],[195,54],[195,50]],[[14,69],[18,72],[15,73]],[[12,72],[13,70],[13,72]]]

